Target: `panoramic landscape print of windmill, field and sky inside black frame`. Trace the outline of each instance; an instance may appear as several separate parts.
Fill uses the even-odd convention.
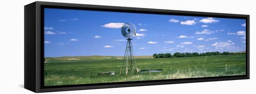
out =
[[[246,75],[246,20],[44,8],[44,86]]]

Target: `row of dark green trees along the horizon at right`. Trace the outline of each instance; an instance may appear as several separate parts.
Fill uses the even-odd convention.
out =
[[[229,52],[206,52],[206,53],[179,53],[176,52],[173,55],[171,53],[166,54],[153,54],[154,58],[172,58],[172,57],[194,57],[194,56],[211,56],[211,55],[229,55],[229,54],[245,54],[245,53],[229,53]]]

